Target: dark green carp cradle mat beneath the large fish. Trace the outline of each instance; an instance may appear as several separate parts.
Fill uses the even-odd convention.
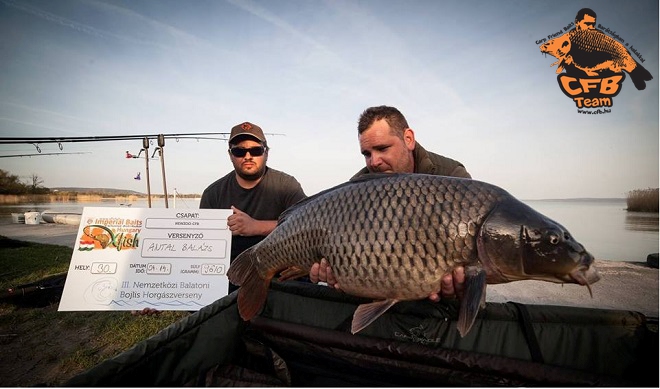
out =
[[[231,294],[66,386],[657,386],[658,334],[638,313],[488,303],[471,331],[458,303],[403,302],[359,334],[367,300],[273,282],[243,322]]]

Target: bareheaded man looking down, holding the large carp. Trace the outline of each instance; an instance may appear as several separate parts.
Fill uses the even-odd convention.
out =
[[[366,166],[353,178],[368,173],[423,173],[472,178],[462,163],[429,152],[417,143],[406,118],[394,107],[367,108],[358,121],[358,140]],[[325,260],[312,266],[309,278],[312,282],[326,282],[340,289]],[[464,269],[458,267],[453,274],[443,277],[441,290],[432,293],[429,299],[439,301],[440,296],[460,297],[464,282]]]

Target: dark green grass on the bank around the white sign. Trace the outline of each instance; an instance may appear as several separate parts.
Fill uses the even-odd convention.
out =
[[[73,249],[64,246],[0,236],[0,292],[66,272],[72,253]],[[151,316],[134,316],[126,311],[58,312],[57,300],[37,307],[14,302],[0,300],[2,386],[62,385],[189,315],[181,311]],[[9,382],[6,378],[11,377],[3,377],[3,373],[29,378]]]

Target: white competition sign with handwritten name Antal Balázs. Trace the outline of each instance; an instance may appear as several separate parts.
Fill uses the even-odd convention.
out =
[[[226,296],[229,209],[85,207],[60,311],[196,311]]]

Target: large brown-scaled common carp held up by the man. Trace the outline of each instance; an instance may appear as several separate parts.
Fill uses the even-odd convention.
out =
[[[464,336],[486,300],[486,284],[535,279],[598,281],[593,256],[560,224],[503,189],[425,174],[376,174],[309,197],[280,216],[264,240],[227,273],[241,285],[238,309],[250,320],[271,279],[306,275],[326,258],[344,292],[375,299],[358,306],[356,333],[402,300],[425,299],[465,267],[457,327]],[[591,289],[589,289],[591,293]]]

